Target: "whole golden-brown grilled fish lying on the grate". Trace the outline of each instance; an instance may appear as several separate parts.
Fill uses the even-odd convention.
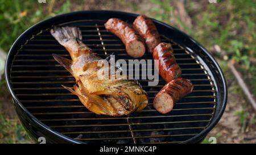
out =
[[[72,60],[53,54],[76,79],[72,87],[63,86],[77,95],[89,111],[98,115],[121,116],[139,111],[148,104],[148,97],[134,81],[126,78],[98,78],[102,60],[97,53],[82,43],[82,33],[77,27],[53,27],[51,34],[67,49]],[[113,75],[110,75],[113,76]],[[104,77],[104,76],[103,76]]]

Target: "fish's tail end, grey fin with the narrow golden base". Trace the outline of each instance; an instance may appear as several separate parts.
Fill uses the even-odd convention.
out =
[[[67,49],[73,61],[76,61],[77,57],[81,55],[93,53],[92,49],[82,43],[82,32],[78,27],[55,26],[50,32]]]

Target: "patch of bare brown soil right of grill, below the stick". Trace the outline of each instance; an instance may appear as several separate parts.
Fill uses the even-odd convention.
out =
[[[216,137],[217,143],[256,143],[255,111],[247,102],[233,74],[222,66],[228,85],[228,102],[220,122],[206,139]]]

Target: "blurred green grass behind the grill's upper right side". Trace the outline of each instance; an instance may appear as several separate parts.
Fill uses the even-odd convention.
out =
[[[240,64],[243,73],[248,74],[248,84],[256,94],[256,65],[250,64],[250,58],[256,57],[256,1],[230,0],[206,3],[196,8],[196,1],[186,1],[188,14],[191,15],[193,27],[188,28],[180,23],[170,23],[174,9],[167,5],[169,0],[151,0],[158,5],[153,12],[155,18],[180,27],[207,49],[217,44],[222,51]],[[201,4],[200,4],[201,5]],[[175,16],[174,18],[178,18]]]

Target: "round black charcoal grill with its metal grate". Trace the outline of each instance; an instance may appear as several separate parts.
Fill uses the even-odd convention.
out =
[[[114,53],[127,56],[118,37],[106,32],[109,18],[132,23],[137,15],[118,11],[81,11],[58,15],[29,28],[14,43],[6,61],[6,82],[19,119],[35,138],[47,143],[199,143],[220,120],[226,105],[225,78],[216,60],[199,43],[175,28],[154,20],[162,41],[171,43],[182,77],[194,90],[162,115],[152,100],[165,82],[148,86],[150,104],[129,116],[103,116],[86,110],[80,100],[61,85],[73,86],[75,79],[58,64],[52,53],[69,57],[49,33],[53,25],[77,26],[83,42],[102,58]],[[141,59],[152,60],[146,53]],[[154,68],[153,68],[154,69]],[[148,69],[149,70],[149,69]]]

